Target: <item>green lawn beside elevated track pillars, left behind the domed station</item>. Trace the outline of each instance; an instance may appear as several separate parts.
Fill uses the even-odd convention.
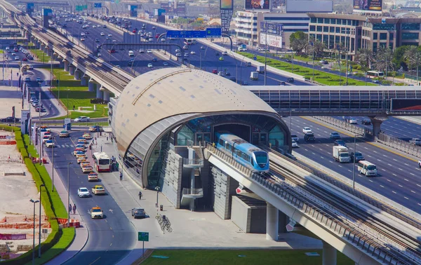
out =
[[[93,111],[93,104],[91,99],[95,98],[95,92],[89,92],[88,86],[81,86],[81,81],[74,80],[74,76],[69,75],[68,72],[63,71],[62,69],[53,69],[55,79],[60,80],[60,101],[63,106],[67,108],[69,106],[69,116],[71,118],[77,118],[79,116],[88,116],[91,118],[101,118],[108,116],[108,109],[106,104],[96,104],[96,111],[94,112],[80,112],[77,111],[78,107],[91,107],[86,110]],[[53,81],[53,84],[57,83]],[[58,87],[54,87],[53,94],[55,97],[58,97]],[[67,95],[69,96],[69,101],[67,102]],[[114,97],[110,95],[110,97]],[[73,106],[75,111],[73,110]],[[63,116],[60,118],[66,118]],[[57,119],[57,118],[54,118]]]

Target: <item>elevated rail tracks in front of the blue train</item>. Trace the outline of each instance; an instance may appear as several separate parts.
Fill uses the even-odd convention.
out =
[[[269,178],[277,184],[281,184],[297,196],[304,196],[321,208],[330,216],[334,216],[349,229],[363,231],[373,245],[382,247],[383,250],[396,259],[392,264],[421,264],[421,243],[392,225],[381,221],[368,214],[364,210],[356,208],[352,203],[339,198],[326,189],[307,182],[292,170],[288,170],[279,163],[270,162],[271,173]]]

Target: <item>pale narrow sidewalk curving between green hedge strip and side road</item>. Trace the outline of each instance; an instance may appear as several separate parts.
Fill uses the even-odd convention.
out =
[[[46,156],[46,158],[47,158],[48,163],[44,164],[44,166],[46,167],[46,170],[48,172],[48,175],[50,175],[50,177],[53,175],[53,170],[54,170],[54,176],[55,176],[54,191],[59,193],[63,204],[65,205],[65,207],[67,207],[67,187],[62,182],[62,179],[58,175],[58,172],[55,169],[53,169],[53,165],[51,164],[51,160],[49,156]],[[74,201],[72,201],[72,197],[70,197],[70,203],[74,205]],[[60,255],[58,255],[54,259],[51,259],[51,261],[48,261],[46,263],[47,265],[62,264],[65,261],[71,259],[72,257],[74,257],[74,255],[76,255],[83,249],[83,247],[86,245],[86,242],[88,241],[89,232],[88,232],[88,229],[86,229],[86,226],[83,222],[81,215],[79,215],[79,210],[76,210],[76,215],[72,214],[70,215],[70,217],[72,219],[79,220],[81,227],[76,229],[76,235],[74,237],[74,240],[69,245],[69,247],[67,247],[67,250],[62,252]]]

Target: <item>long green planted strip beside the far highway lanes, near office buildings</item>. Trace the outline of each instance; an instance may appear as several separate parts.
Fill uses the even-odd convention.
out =
[[[253,55],[253,53],[244,53],[239,52],[239,54],[248,57],[249,59],[253,59],[253,57],[257,57],[258,62],[265,63],[265,57],[260,55]],[[267,58],[267,65],[274,67],[276,69],[298,74],[300,76],[304,76],[305,79],[311,80],[313,79],[313,68],[309,67],[302,67],[300,65],[294,64],[294,68],[291,63],[283,62],[281,60],[275,60],[272,58]],[[293,71],[294,69],[294,71]],[[344,86],[345,85],[345,76],[338,76],[337,74],[329,74],[323,71],[314,70],[314,81],[317,83],[321,83],[322,85],[326,86]],[[348,79],[348,86],[375,86],[373,83],[366,83],[365,81],[359,81],[355,79]]]

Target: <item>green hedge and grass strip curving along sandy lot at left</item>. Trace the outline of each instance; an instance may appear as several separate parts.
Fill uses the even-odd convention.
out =
[[[73,227],[59,229],[57,218],[67,218],[67,210],[65,205],[62,203],[59,194],[51,191],[51,178],[44,165],[33,163],[31,158],[29,158],[29,154],[32,157],[38,157],[34,146],[29,144],[29,137],[27,135],[22,137],[20,128],[0,125],[0,129],[15,132],[17,148],[22,155],[22,159],[24,160],[27,170],[31,173],[32,178],[34,179],[36,188],[40,189],[41,184],[45,185],[45,188],[41,189],[41,196],[43,198],[41,203],[44,206],[48,222],[51,224],[51,233],[48,235],[48,238],[46,238],[44,243],[41,244],[41,258],[39,259],[36,254],[35,259],[35,264],[44,264],[46,261],[53,259],[53,257],[60,254],[70,245],[70,243],[72,243],[75,231]],[[38,253],[38,246],[36,246],[35,252]],[[32,264],[32,251],[26,252],[16,259],[1,261],[1,264]]]

